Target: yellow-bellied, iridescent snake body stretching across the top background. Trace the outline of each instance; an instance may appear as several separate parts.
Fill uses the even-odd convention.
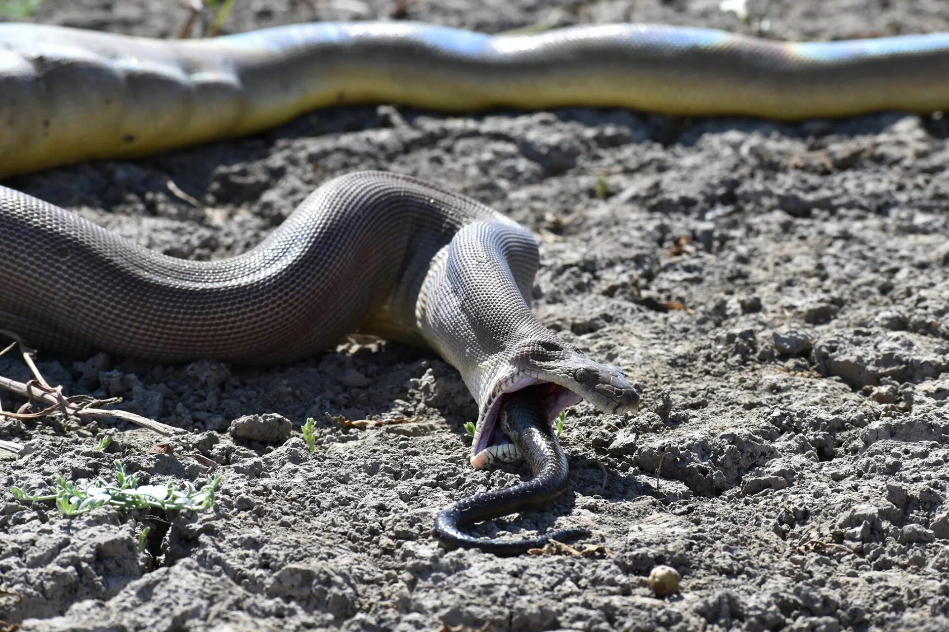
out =
[[[780,43],[658,25],[316,23],[197,41],[0,24],[0,175],[247,135],[331,104],[838,117],[949,108],[949,34]]]

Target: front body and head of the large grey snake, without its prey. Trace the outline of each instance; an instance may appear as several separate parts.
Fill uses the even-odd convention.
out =
[[[581,398],[615,413],[639,401],[622,370],[530,312],[527,230],[408,176],[335,178],[257,247],[214,262],[149,251],[0,187],[0,246],[0,329],[45,349],[266,364],[354,331],[434,349],[478,402],[475,467],[519,457],[497,424],[506,393],[541,385],[548,419]]]

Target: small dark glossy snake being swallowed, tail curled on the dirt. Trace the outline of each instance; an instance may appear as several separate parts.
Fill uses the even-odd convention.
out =
[[[568,466],[564,450],[550,430],[547,413],[536,388],[522,388],[507,395],[501,408],[501,429],[524,455],[534,478],[513,487],[476,494],[439,512],[436,535],[452,548],[477,548],[497,555],[516,555],[542,547],[550,539],[566,540],[588,535],[586,529],[562,529],[533,538],[502,540],[476,538],[462,533],[464,525],[539,508],[567,490]]]

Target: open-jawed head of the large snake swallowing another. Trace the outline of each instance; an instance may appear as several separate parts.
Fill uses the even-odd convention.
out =
[[[471,462],[475,468],[520,458],[498,423],[507,393],[541,385],[534,389],[549,421],[581,400],[611,414],[635,412],[640,405],[640,394],[626,380],[622,370],[593,362],[553,334],[519,342],[495,374],[499,377],[483,398],[474,427]]]

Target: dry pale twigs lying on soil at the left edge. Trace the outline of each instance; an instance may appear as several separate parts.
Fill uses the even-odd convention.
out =
[[[33,401],[38,401],[47,405],[46,408],[39,412],[28,413],[24,412],[28,406],[27,404],[21,407],[19,412],[0,411],[0,416],[10,417],[13,419],[39,419],[40,417],[46,417],[48,414],[57,410],[63,410],[66,414],[75,415],[76,417],[89,417],[92,419],[112,417],[115,419],[121,419],[131,424],[148,428],[153,432],[158,432],[159,435],[163,435],[165,437],[172,437],[184,432],[181,428],[176,428],[173,425],[161,424],[155,420],[137,415],[134,412],[128,412],[126,410],[106,410],[104,408],[93,407],[116,404],[121,402],[120,397],[114,397],[107,400],[97,400],[88,395],[65,397],[65,395],[63,395],[63,387],[50,387],[47,384],[47,381],[43,379],[43,375],[41,375],[40,370],[36,368],[36,365],[33,363],[32,358],[29,356],[29,353],[23,344],[23,339],[19,335],[3,329],[0,329],[0,334],[7,335],[13,339],[13,342],[10,343],[2,352],[0,352],[0,355],[9,352],[9,350],[14,346],[19,346],[20,353],[23,356],[23,361],[27,363],[27,366],[29,367],[30,372],[33,373],[34,378],[24,383],[11,380],[8,377],[0,377],[0,388],[14,392],[21,397],[26,397],[28,404]]]

